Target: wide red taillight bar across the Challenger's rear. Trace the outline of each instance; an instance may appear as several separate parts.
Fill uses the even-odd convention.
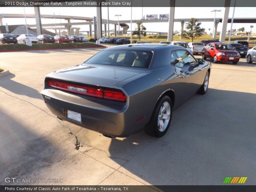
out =
[[[87,95],[91,97],[98,97],[107,100],[126,101],[126,96],[121,90],[102,88],[97,86],[85,86],[77,84],[69,84],[64,82],[58,82],[54,80],[48,80],[48,86],[60,89],[63,91],[74,92],[81,95]]]

